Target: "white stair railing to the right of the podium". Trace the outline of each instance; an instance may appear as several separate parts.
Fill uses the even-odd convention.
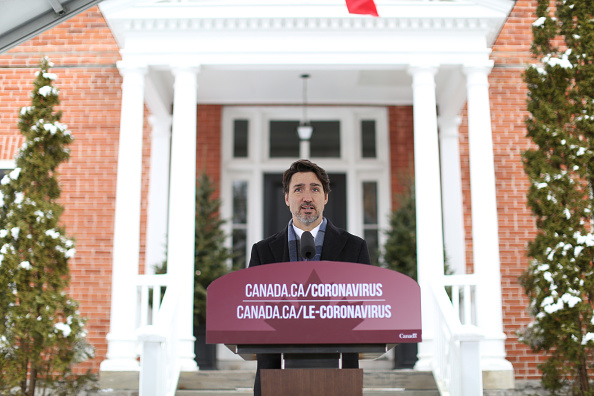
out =
[[[482,395],[480,341],[484,336],[472,324],[476,278],[474,275],[445,276],[443,283],[435,283],[431,289],[437,307],[433,375],[440,393]]]

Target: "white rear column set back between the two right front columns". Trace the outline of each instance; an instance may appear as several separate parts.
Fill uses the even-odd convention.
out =
[[[439,124],[445,252],[448,265],[455,274],[466,273],[462,176],[458,137],[460,121],[461,118],[458,116],[440,116],[437,118]]]

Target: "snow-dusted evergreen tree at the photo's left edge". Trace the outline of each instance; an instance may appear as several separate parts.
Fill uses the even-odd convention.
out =
[[[92,357],[78,304],[65,293],[74,242],[60,225],[58,166],[67,161],[70,131],[60,123],[55,74],[44,58],[32,105],[20,111],[25,143],[16,168],[0,184],[0,393],[76,394],[90,374],[73,364]]]

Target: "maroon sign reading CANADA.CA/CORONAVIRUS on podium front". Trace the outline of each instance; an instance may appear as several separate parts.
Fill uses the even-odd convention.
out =
[[[208,287],[210,344],[421,341],[419,285],[371,265],[310,261],[227,274]]]

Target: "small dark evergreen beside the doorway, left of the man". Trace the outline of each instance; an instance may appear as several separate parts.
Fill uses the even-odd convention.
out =
[[[230,271],[227,262],[233,257],[225,246],[225,222],[219,215],[221,201],[213,198],[214,192],[214,183],[203,171],[196,188],[194,325],[206,323],[206,288]]]

